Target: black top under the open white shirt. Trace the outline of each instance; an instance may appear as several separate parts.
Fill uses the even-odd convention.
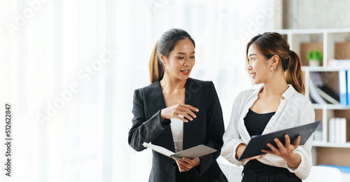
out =
[[[246,130],[248,131],[250,136],[260,135],[265,130],[267,123],[274,113],[255,113],[251,109],[249,109],[246,117],[244,118],[244,125],[246,126]]]

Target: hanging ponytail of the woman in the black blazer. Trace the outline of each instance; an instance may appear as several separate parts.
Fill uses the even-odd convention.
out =
[[[154,45],[149,63],[151,84],[155,83],[158,80],[162,80],[164,76],[164,66],[162,61],[158,57],[158,42],[159,40]]]

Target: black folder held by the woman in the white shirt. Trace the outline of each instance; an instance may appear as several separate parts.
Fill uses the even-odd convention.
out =
[[[269,134],[263,135],[254,135],[251,137],[251,141],[249,141],[248,145],[244,149],[241,157],[238,160],[244,160],[246,158],[251,158],[256,155],[264,154],[261,150],[271,150],[267,143],[272,144],[274,147],[278,148],[274,139],[279,139],[283,146],[286,144],[286,140],[284,139],[284,135],[288,134],[290,139],[290,144],[294,144],[297,136],[300,135],[300,146],[304,145],[305,142],[309,139],[311,134],[313,134],[316,130],[316,127],[321,121],[316,121],[315,123],[309,123],[307,125],[301,125],[298,127],[292,127],[286,130],[280,130],[278,132],[272,132]]]

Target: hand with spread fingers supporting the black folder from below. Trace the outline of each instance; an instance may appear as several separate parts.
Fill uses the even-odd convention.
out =
[[[294,150],[300,144],[300,136],[297,137],[294,144],[290,144],[288,134],[284,135],[284,139],[286,139],[286,146],[283,146],[279,139],[274,139],[274,142],[276,142],[278,148],[275,148],[272,146],[272,144],[267,144],[267,146],[271,148],[271,151],[262,150],[262,152],[277,155],[283,158],[283,160],[285,160],[290,167],[297,168],[300,164],[301,158],[300,155],[294,153]]]

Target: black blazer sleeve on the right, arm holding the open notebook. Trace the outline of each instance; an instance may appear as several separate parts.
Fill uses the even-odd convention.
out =
[[[216,93],[214,83],[206,84],[205,99],[207,104],[207,146],[215,148],[215,153],[200,157],[200,169],[196,167],[197,174],[203,174],[212,164],[221,152],[223,146],[223,133],[225,127],[223,124],[223,111]]]

